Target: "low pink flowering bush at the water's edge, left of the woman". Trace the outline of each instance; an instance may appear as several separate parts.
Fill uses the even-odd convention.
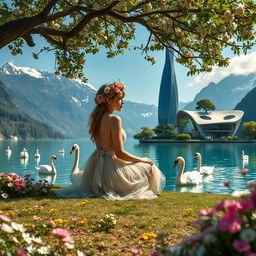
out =
[[[46,180],[33,183],[30,174],[23,178],[16,173],[0,173],[0,196],[2,199],[21,196],[43,196],[49,194],[52,185]]]

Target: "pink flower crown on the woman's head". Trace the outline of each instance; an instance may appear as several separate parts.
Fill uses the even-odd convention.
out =
[[[108,84],[103,93],[96,95],[94,101],[96,104],[102,104],[106,102],[106,98],[113,98],[117,93],[121,92],[125,88],[125,85],[121,82],[115,82]]]

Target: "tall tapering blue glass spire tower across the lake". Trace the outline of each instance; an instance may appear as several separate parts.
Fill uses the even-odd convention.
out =
[[[158,124],[176,124],[178,88],[173,53],[166,48],[165,64],[158,99]]]

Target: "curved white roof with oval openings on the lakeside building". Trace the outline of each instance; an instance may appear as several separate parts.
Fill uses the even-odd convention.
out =
[[[215,123],[236,123],[244,115],[242,110],[208,111],[207,113],[200,111],[179,110],[177,115],[179,115],[179,113],[186,113],[199,125]]]

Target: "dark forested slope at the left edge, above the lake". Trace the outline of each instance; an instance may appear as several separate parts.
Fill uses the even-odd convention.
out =
[[[50,127],[41,124],[25,114],[21,114],[14,101],[0,81],[0,134],[5,138],[10,135],[21,139],[63,138]]]

